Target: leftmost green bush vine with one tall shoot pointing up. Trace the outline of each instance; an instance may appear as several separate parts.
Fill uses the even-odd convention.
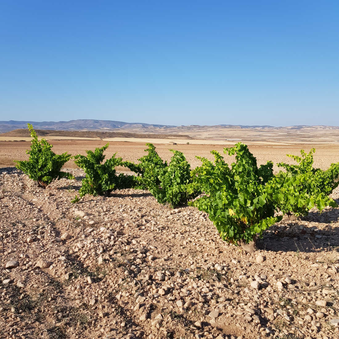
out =
[[[62,172],[62,166],[71,158],[71,154],[67,152],[63,154],[55,154],[52,151],[53,145],[49,144],[45,139],[38,140],[38,136],[31,124],[27,124],[29,132],[31,132],[31,149],[27,150],[29,159],[26,161],[15,161],[16,167],[34,181],[39,186],[46,188],[54,179],[68,178],[73,179],[70,173]]]

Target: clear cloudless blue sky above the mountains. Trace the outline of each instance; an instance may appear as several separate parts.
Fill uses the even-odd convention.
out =
[[[339,125],[339,2],[0,1],[0,120]]]

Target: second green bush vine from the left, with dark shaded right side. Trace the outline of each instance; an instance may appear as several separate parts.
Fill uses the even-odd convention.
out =
[[[86,194],[109,196],[113,190],[121,188],[131,188],[135,186],[135,177],[120,173],[116,175],[116,166],[123,166],[122,158],[116,158],[116,153],[111,159],[104,163],[105,156],[103,152],[108,147],[108,143],[95,151],[86,151],[87,156],[76,155],[74,162],[84,170],[85,178],[82,179],[82,187],[79,190],[80,198]],[[76,196],[72,202],[79,201]]]

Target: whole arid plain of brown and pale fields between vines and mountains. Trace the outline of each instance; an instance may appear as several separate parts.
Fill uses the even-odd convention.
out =
[[[168,149],[182,151],[193,167],[199,165],[195,156],[211,158],[210,151],[222,153],[224,147],[234,145],[237,140],[246,143],[259,164],[272,160],[273,163],[288,161],[286,154],[299,154],[300,149],[309,151],[316,148],[315,166],[328,167],[339,161],[339,128],[324,126],[254,127],[236,128],[222,126],[178,126],[171,128],[143,128],[136,126],[124,130],[117,129],[118,137],[109,137],[109,132],[95,131],[40,131],[42,137],[53,144],[54,152],[84,154],[86,149],[94,149],[109,142],[107,156],[117,152],[124,160],[137,161],[143,156],[145,143],[153,143],[159,155],[169,160]],[[53,135],[55,133],[55,135]],[[124,137],[124,135],[128,137]],[[144,136],[144,137],[143,137]],[[179,136],[179,137],[178,137]],[[186,137],[185,137],[186,136]],[[236,140],[227,140],[236,139]],[[23,141],[25,140],[25,141]],[[18,129],[0,135],[0,165],[13,165],[12,160],[27,158],[29,148],[27,129]],[[173,143],[176,143],[173,145]],[[227,158],[227,157],[226,157]],[[231,161],[230,161],[231,162]],[[66,166],[72,166],[72,162]],[[277,168],[275,168],[277,169]]]

